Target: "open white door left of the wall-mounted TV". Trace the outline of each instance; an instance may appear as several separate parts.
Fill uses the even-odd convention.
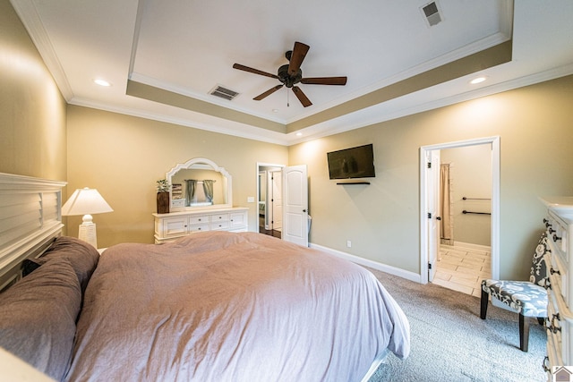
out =
[[[308,246],[308,180],[306,165],[283,168],[283,232],[286,242]]]

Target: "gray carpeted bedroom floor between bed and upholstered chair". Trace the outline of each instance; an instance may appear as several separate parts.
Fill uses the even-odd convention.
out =
[[[435,284],[417,284],[370,269],[410,321],[410,356],[390,353],[370,382],[544,381],[546,335],[530,323],[529,352],[519,350],[517,314],[493,307],[479,317],[480,299]]]

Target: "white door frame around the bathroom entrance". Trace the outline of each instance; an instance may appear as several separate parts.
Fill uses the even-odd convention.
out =
[[[430,151],[440,149],[463,148],[483,144],[492,145],[492,278],[500,278],[500,136],[458,140],[448,143],[422,146],[420,148],[420,283],[428,284],[429,237],[426,205],[426,192],[433,187],[426,176],[426,157]]]

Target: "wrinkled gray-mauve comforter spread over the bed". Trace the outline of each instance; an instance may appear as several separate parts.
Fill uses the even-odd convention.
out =
[[[107,249],[71,381],[355,381],[409,325],[363,267],[259,233]]]

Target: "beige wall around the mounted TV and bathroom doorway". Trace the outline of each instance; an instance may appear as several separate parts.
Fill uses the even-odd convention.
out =
[[[537,197],[573,194],[572,89],[569,76],[289,148],[289,165],[309,169],[311,241],[419,273],[420,147],[499,135],[500,276],[526,277],[542,227]],[[328,151],[370,142],[372,184],[329,181]]]

